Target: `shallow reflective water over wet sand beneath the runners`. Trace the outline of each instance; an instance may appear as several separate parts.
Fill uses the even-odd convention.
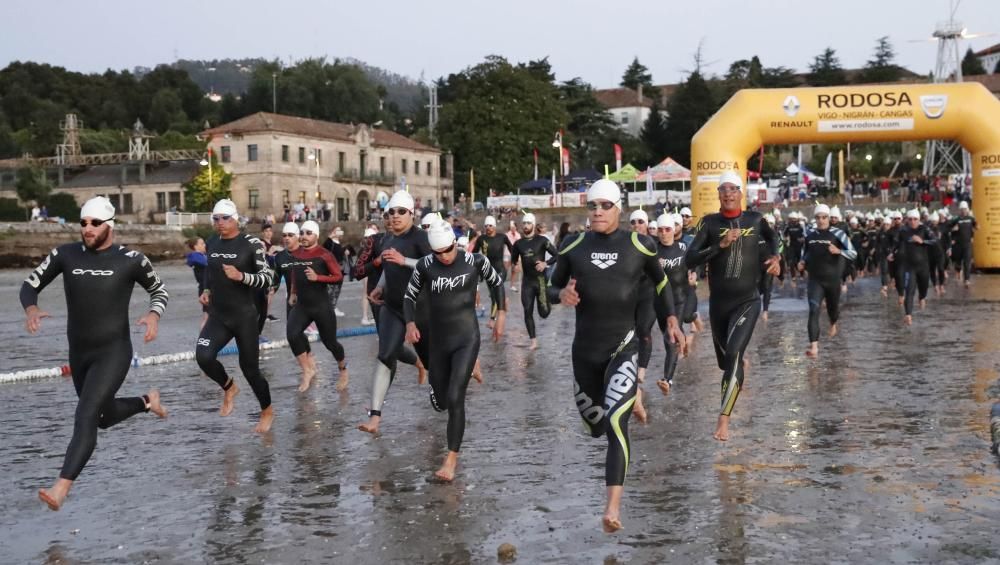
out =
[[[144,356],[191,350],[198,331],[190,272],[159,271],[171,303],[160,339],[139,345],[136,330]],[[25,275],[0,272],[0,372],[65,363],[61,284],[42,295],[53,317],[27,336],[17,304]],[[803,354],[803,291],[776,289],[770,321],[758,323],[728,443],[710,435],[720,375],[707,334],[681,361],[669,397],[645,386],[651,421],[633,420],[617,535],[599,524],[605,440],[582,433],[572,400],[572,313],[556,307],[536,320],[542,347],[531,352],[517,307],[502,344],[483,328],[487,382],[469,387],[451,485],[431,478],[446,418],[412,368],[390,390],[382,435],[354,429],[374,336],[342,341],[352,375],[344,394],[319,344],[322,376],[306,394],[291,353],[264,352],[277,411],[264,437],[252,433],[248,387],[220,418],[220,393],[193,361],[132,369],[122,394],[160,388],[170,418],[140,415],[101,431],[59,513],[35,491],[61,466],[73,387],[0,386],[0,562],[483,563],[504,542],[522,563],[1000,561],[1000,471],[988,451],[1000,279],[978,277],[969,291],[951,284],[911,328],[876,281],[862,280],[819,360]],[[345,286],[343,327],[358,325],[359,296],[359,284]],[[137,318],[141,289],[133,300]],[[265,329],[283,334],[283,320]],[[223,359],[237,371],[235,357]],[[655,375],[659,346],[653,359]]]

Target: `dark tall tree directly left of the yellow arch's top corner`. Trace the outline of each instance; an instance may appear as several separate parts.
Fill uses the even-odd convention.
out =
[[[667,151],[675,161],[690,167],[691,138],[717,110],[712,91],[695,71],[667,102]]]

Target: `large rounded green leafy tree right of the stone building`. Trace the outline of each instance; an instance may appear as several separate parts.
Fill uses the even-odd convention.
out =
[[[559,89],[538,71],[537,65],[512,65],[492,55],[440,83],[436,133],[455,156],[456,190],[466,190],[468,171],[475,169],[480,194],[512,191],[530,178],[535,147],[540,170],[556,165],[550,144],[569,114]],[[569,134],[564,138],[571,147],[574,141]]]

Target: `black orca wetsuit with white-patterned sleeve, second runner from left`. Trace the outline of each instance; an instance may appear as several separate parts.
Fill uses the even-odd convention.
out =
[[[264,255],[264,244],[255,236],[238,234],[231,239],[213,237],[208,240],[207,247],[208,320],[198,336],[195,360],[222,390],[229,390],[233,380],[226,374],[218,355],[219,350],[235,338],[240,370],[263,410],[271,405],[271,391],[260,373],[256,296],[259,289],[271,286],[273,276]],[[236,267],[243,273],[242,280],[226,277],[223,265]]]

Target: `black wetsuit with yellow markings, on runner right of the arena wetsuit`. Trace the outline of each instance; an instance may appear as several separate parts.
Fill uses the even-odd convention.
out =
[[[742,235],[723,249],[719,243],[730,229],[739,229]],[[762,247],[758,238],[763,238],[766,246]],[[792,237],[791,241],[795,239]],[[743,352],[760,314],[761,264],[777,254],[777,235],[757,212],[743,212],[733,218],[721,213],[705,216],[688,248],[689,266],[702,263],[709,266],[709,318],[715,358],[722,369],[723,416],[732,413],[743,387]]]

